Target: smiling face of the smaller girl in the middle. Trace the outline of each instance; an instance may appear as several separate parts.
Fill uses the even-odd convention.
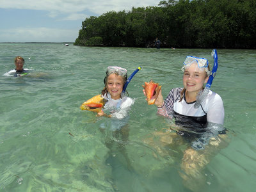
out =
[[[116,74],[110,74],[107,80],[107,90],[112,99],[120,99],[124,87],[124,78]]]

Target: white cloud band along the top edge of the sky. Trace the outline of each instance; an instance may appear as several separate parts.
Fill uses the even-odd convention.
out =
[[[131,10],[134,7],[156,6],[159,1],[156,0],[0,0],[0,8],[26,9],[26,10],[44,10],[49,11],[49,17],[68,14],[67,18],[76,18],[74,15],[85,12],[102,15],[109,11]],[[90,15],[90,16],[95,16]],[[80,15],[81,16],[81,15]],[[81,18],[81,17],[77,17]]]

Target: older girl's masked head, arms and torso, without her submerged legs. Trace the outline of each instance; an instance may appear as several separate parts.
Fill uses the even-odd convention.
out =
[[[223,102],[220,95],[210,90],[200,107],[194,108],[196,96],[204,90],[204,84],[209,79],[208,60],[188,56],[182,71],[184,87],[173,88],[165,100],[160,91],[154,104],[157,106],[157,113],[174,119],[175,124],[185,130],[177,133],[193,141],[191,147],[200,150],[207,145],[209,136],[225,132]],[[145,94],[145,90],[143,92]]]

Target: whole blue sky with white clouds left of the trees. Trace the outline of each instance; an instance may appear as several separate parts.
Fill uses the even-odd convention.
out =
[[[160,0],[0,0],[0,42],[75,42],[82,22]]]

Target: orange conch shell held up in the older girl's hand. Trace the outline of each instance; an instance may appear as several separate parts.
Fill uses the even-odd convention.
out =
[[[145,89],[148,105],[154,104],[161,90],[161,86],[151,80],[149,83],[145,82],[143,88]]]

